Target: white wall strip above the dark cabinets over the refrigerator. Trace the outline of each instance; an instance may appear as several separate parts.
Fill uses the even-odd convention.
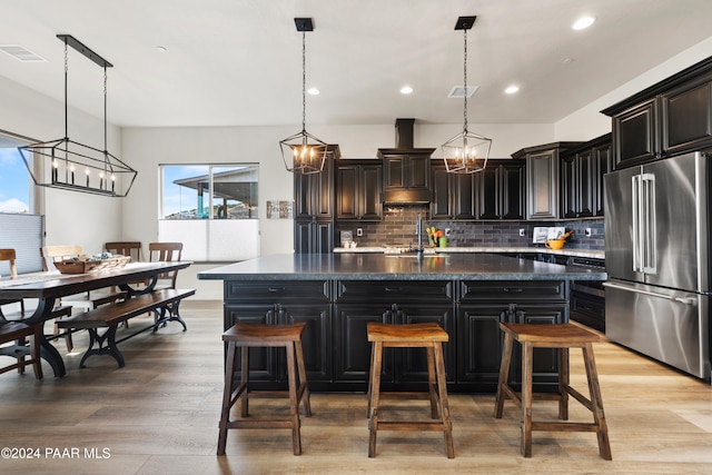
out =
[[[611,118],[601,110],[710,57],[712,37],[660,63],[554,125],[557,141],[590,140],[611,131]]]

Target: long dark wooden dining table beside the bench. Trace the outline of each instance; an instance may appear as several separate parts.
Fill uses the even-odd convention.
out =
[[[0,278],[0,300],[38,299],[34,311],[22,321],[30,325],[41,324],[52,318],[52,308],[62,297],[116,286],[131,298],[154,291],[161,274],[185,269],[191,264],[191,261],[130,263],[123,267],[89,274],[60,274],[58,270],[52,270],[22,274],[14,279],[2,277]],[[147,285],[140,287],[130,285],[136,281],[146,281]],[[0,318],[3,318],[1,310]],[[65,376],[66,369],[61,355],[43,333],[40,352],[41,357],[52,367],[55,376]]]

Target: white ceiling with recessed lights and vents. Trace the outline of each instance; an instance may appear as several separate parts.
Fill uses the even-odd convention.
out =
[[[582,13],[596,17],[573,31]],[[710,36],[710,0],[0,0],[0,76],[63,101],[68,33],[113,63],[108,120],[127,127],[462,122],[459,16],[468,32],[472,122],[550,123]],[[156,47],[167,48],[160,53]],[[566,58],[573,59],[564,62]],[[103,115],[102,71],[69,50],[69,100]],[[415,92],[402,96],[403,85]],[[504,95],[511,83],[521,91]],[[71,120],[71,119],[70,119]]]

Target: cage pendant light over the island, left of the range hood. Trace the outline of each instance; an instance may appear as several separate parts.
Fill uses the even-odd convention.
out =
[[[301,31],[301,131],[279,141],[281,159],[287,171],[301,175],[319,174],[327,157],[327,144],[306,130],[306,32],[314,31],[310,18],[294,19],[297,31]]]

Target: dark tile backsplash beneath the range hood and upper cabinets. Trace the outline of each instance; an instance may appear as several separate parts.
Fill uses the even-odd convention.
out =
[[[427,205],[384,206],[383,220],[378,222],[344,222],[337,221],[336,245],[339,246],[340,231],[353,231],[354,240],[359,247],[375,246],[415,246],[417,235],[415,224],[417,216],[423,216],[423,226],[435,226],[437,229],[449,228],[448,245],[453,247],[533,247],[543,248],[544,245],[533,244],[535,226],[563,226],[573,229],[574,234],[566,239],[566,247],[572,249],[604,249],[603,218],[562,221],[429,221]],[[363,236],[357,236],[360,228]],[[591,236],[585,235],[586,228]],[[520,236],[524,229],[524,237]],[[423,235],[427,244],[427,235]]]

